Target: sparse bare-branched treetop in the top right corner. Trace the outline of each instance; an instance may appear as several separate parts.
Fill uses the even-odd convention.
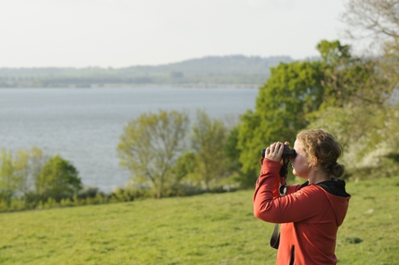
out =
[[[399,82],[398,9],[398,0],[349,0],[341,14],[348,37],[374,44],[376,67],[391,84],[384,90],[387,98]]]

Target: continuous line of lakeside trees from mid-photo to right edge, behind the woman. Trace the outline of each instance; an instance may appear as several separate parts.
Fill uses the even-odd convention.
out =
[[[118,146],[121,166],[137,183],[153,188],[157,197],[177,186],[209,190],[220,179],[253,187],[262,147],[293,143],[304,128],[323,128],[344,146],[344,178],[397,174],[398,77],[383,70],[387,57],[353,56],[350,46],[338,40],[322,40],[317,49],[320,61],[282,62],[271,68],[254,111],[245,112],[229,132],[221,121],[199,112],[187,151],[187,120],[181,113],[145,114],[133,120]]]

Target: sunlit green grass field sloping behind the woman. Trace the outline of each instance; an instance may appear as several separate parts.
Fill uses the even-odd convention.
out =
[[[338,264],[398,264],[399,177],[348,183]],[[275,264],[253,191],[0,214],[0,264]],[[312,207],[312,206],[310,206]]]

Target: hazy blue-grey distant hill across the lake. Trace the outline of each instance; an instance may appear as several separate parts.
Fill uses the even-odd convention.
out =
[[[208,56],[126,68],[0,68],[0,87],[259,87],[288,56]]]

